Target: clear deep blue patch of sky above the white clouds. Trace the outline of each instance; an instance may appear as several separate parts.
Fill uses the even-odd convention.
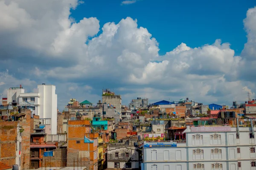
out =
[[[230,42],[240,55],[247,41],[243,19],[254,0],[138,0],[120,5],[122,0],[84,0],[71,10],[76,21],[96,17],[105,23],[119,23],[122,18],[138,20],[159,42],[160,55],[174,49],[181,42],[190,47],[213,43],[216,39]],[[101,31],[99,32],[99,34]]]

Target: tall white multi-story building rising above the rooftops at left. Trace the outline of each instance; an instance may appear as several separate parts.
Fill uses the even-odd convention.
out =
[[[7,100],[17,103],[18,107],[31,109],[32,115],[39,115],[41,126],[45,133],[57,133],[57,94],[55,85],[38,85],[35,93],[24,93],[24,89],[10,88],[7,92]]]

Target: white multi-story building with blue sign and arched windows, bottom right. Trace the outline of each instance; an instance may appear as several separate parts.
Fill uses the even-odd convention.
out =
[[[187,127],[186,141],[144,142],[142,170],[256,170],[256,127]]]

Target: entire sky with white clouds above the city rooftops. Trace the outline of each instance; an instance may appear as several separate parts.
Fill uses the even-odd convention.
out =
[[[102,88],[126,105],[256,98],[255,0],[122,2],[0,0],[0,97],[46,83],[59,108],[96,103]]]

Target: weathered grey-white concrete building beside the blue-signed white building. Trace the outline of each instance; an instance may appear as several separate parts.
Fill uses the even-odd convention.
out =
[[[118,143],[108,145],[108,169],[139,170],[137,136],[130,136]]]

